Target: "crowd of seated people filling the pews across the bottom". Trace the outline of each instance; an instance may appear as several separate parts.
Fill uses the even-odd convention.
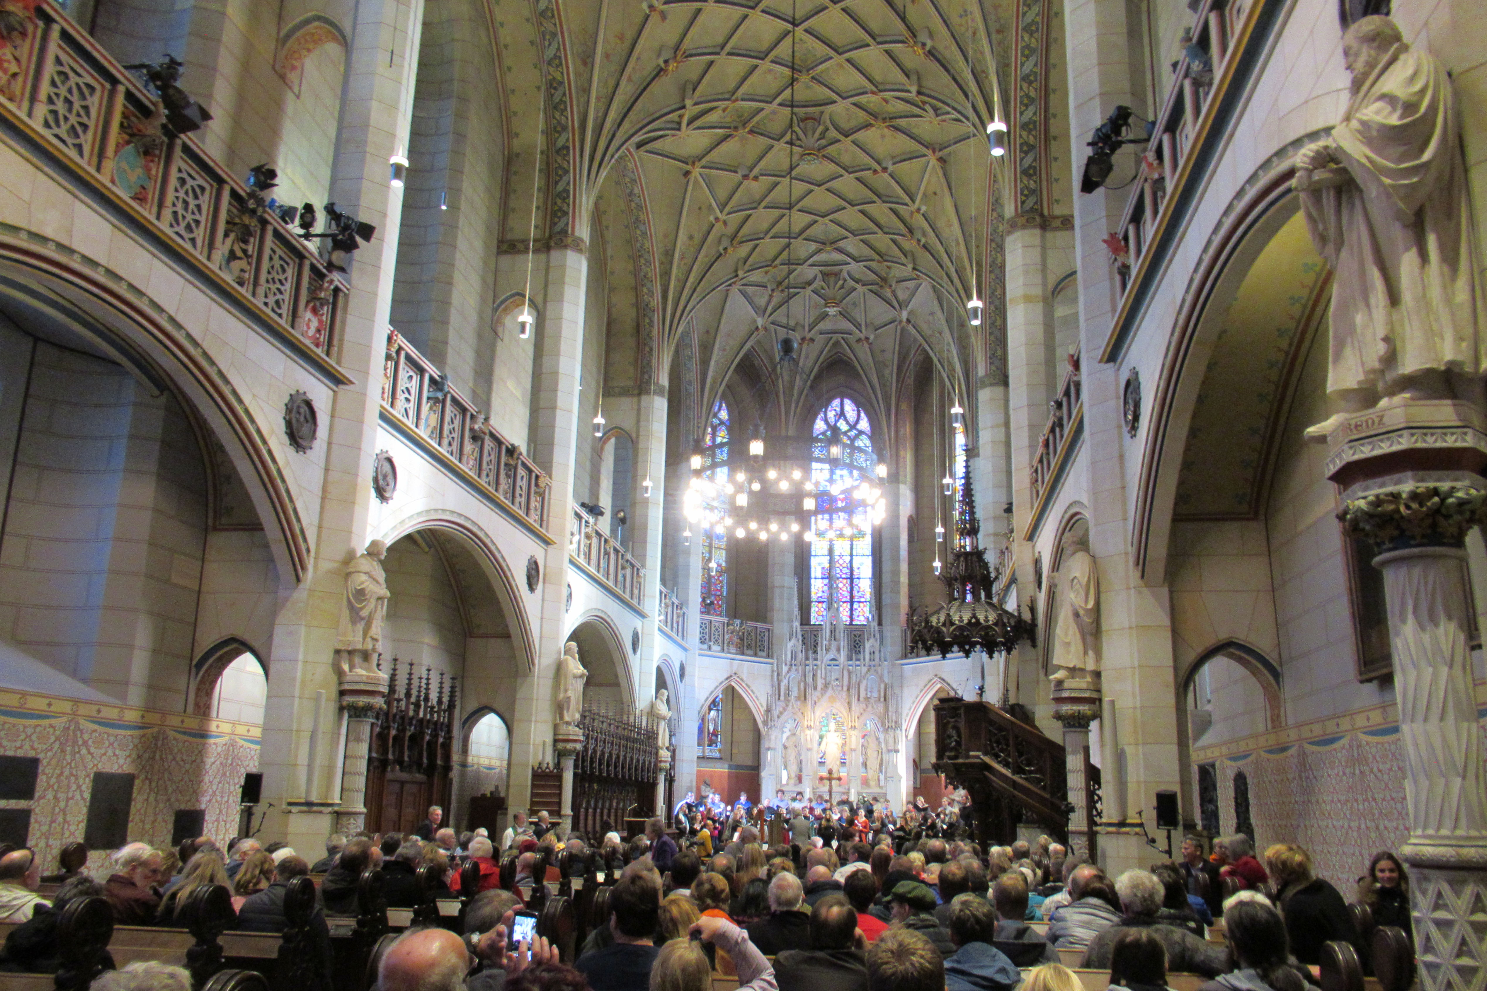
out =
[[[1206,991],[1306,991],[1317,982],[1326,942],[1365,949],[1341,893],[1297,844],[1271,845],[1261,860],[1246,836],[1221,838],[1210,856],[1190,836],[1182,860],[1111,878],[1048,838],[986,853],[943,836],[801,848],[766,847],[744,826],[723,851],[703,857],[700,844],[678,847],[659,828],[653,820],[628,845],[616,835],[601,841],[601,851],[625,866],[613,878],[607,924],[589,933],[571,966],[544,940],[507,945],[522,894],[501,888],[495,845],[485,831],[461,836],[431,814],[422,829],[428,839],[418,832],[335,835],[314,865],[281,842],[253,838],[225,845],[196,838],[175,850],[131,842],[101,871],[74,863],[51,894],[40,890],[31,850],[0,853],[0,920],[16,923],[0,970],[55,972],[58,918],[77,897],[106,899],[117,924],[180,929],[192,894],[222,886],[232,894],[230,929],[283,933],[290,883],[315,875],[311,932],[329,988],[326,917],[357,912],[366,869],[381,869],[391,908],[412,908],[422,897],[421,866],[436,868],[436,896],[455,897],[467,863],[479,868],[479,884],[465,893],[464,939],[415,927],[384,958],[381,987],[457,991],[468,981],[477,991],[507,984],[515,991],[709,991],[711,975],[721,973],[749,991],[1074,991],[1078,979],[1059,964],[1059,951],[1077,951],[1084,967],[1109,969],[1111,984],[1129,991],[1160,991],[1169,973],[1200,975],[1210,981]],[[558,881],[556,854],[587,851],[581,836],[543,819],[528,825],[520,817],[503,839],[516,854],[517,887]],[[532,877],[538,853],[549,854],[546,878]],[[663,854],[666,869],[653,853]],[[1375,924],[1408,932],[1408,877],[1393,854],[1373,857],[1358,900]],[[1227,942],[1207,938],[1215,908]],[[446,972],[448,985],[440,984]],[[134,988],[152,978],[126,969],[110,979]]]

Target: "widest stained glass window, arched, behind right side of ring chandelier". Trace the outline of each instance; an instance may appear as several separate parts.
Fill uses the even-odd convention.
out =
[[[810,541],[810,623],[825,623],[827,581],[834,574],[842,621],[864,624],[873,600],[873,523],[867,508],[851,508],[851,490],[871,480],[877,467],[873,428],[862,407],[843,395],[822,407],[812,435],[816,516]],[[840,449],[837,458],[831,456],[834,447]]]

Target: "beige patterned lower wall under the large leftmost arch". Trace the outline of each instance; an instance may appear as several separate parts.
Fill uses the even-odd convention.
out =
[[[259,767],[260,728],[226,719],[0,691],[0,753],[42,759],[28,842],[46,869],[64,845],[82,839],[95,771],[135,776],[129,839],[164,847],[178,808],[204,808],[207,835],[238,831],[242,776]],[[109,851],[94,851],[98,871]]]

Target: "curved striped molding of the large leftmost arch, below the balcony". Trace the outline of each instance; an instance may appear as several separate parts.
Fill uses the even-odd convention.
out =
[[[172,313],[100,261],[0,224],[0,300],[65,321],[150,388],[171,389],[222,441],[263,523],[283,585],[309,574],[311,541],[283,455],[228,370]]]

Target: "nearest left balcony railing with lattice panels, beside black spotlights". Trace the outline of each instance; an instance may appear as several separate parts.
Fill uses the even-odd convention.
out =
[[[348,287],[318,248],[193,138],[168,137],[159,101],[52,0],[7,4],[4,16],[19,28],[0,25],[0,116],[180,245],[204,281],[230,285],[284,336],[335,355]]]

